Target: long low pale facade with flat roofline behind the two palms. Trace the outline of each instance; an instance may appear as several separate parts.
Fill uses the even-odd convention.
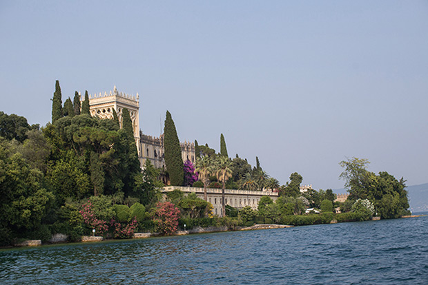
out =
[[[198,198],[204,199],[204,188],[199,187],[167,186],[161,192],[166,194],[175,189],[179,189],[184,193],[195,193]],[[213,214],[222,217],[222,189],[207,188],[206,191],[208,202],[213,205]],[[260,198],[263,196],[269,196],[275,201],[278,199],[278,192],[225,189],[224,203],[237,209],[242,209],[246,206],[257,209]]]

